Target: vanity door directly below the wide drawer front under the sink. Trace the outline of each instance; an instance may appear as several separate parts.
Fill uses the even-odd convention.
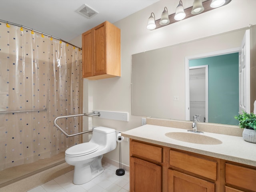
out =
[[[169,169],[168,192],[215,192],[215,185],[212,182]]]

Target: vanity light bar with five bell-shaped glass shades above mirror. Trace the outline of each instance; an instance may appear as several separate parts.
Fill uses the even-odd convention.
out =
[[[166,25],[170,25],[172,23],[178,22],[182,19],[190,18],[195,16],[196,14],[201,14],[220,6],[227,5],[232,0],[194,0],[193,6],[184,9],[182,0],[179,1],[179,4],[176,8],[176,12],[168,15],[167,7],[164,7],[164,11],[162,12],[161,18],[156,20],[154,13],[152,12],[150,17],[148,18],[148,30],[154,30],[161,28]]]

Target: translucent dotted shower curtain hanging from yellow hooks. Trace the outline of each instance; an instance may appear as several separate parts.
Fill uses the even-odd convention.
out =
[[[0,170],[50,158],[79,143],[54,126],[82,113],[82,52],[0,22]],[[68,134],[81,117],[58,120]]]

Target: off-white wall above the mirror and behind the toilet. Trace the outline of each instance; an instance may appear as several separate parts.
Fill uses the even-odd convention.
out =
[[[141,117],[131,115],[132,54],[213,36],[248,27],[250,24],[256,24],[256,12],[254,10],[256,0],[232,0],[230,4],[216,10],[211,10],[157,30],[147,30],[146,24],[150,13],[154,12],[158,19],[164,6],[167,6],[169,14],[171,14],[176,7],[170,6],[173,2],[170,0],[160,0],[114,23],[121,29],[122,76],[120,78],[96,81],[84,79],[84,94],[86,94],[86,97],[84,97],[84,112],[90,112],[93,109],[128,112],[129,122],[93,118],[92,124],[94,126],[107,126],[120,131],[140,126]],[[81,46],[81,36],[75,38],[71,43]],[[182,83],[184,83],[184,80]],[[118,161],[118,148],[106,154],[105,157]],[[122,142],[122,163],[129,165],[128,142]]]

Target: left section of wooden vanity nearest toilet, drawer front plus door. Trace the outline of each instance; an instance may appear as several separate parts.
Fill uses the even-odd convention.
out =
[[[162,147],[130,140],[130,191],[162,191]]]

